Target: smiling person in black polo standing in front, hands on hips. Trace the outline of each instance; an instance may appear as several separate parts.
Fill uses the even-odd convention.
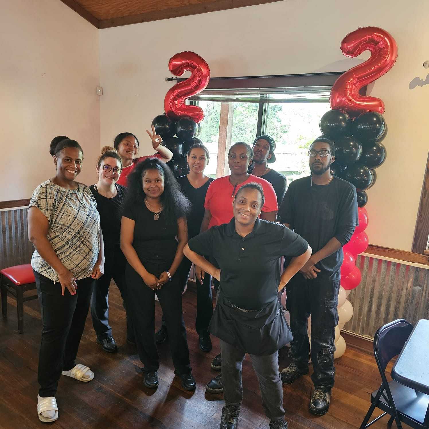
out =
[[[258,219],[264,204],[260,184],[242,186],[234,218],[189,241],[185,256],[220,281],[209,331],[221,340],[225,406],[221,428],[235,429],[242,402],[242,362],[251,356],[270,428],[287,428],[278,350],[292,336],[277,299],[278,290],[304,266],[311,248],[284,225]],[[216,268],[204,257],[214,257]],[[292,256],[280,277],[278,258]]]

